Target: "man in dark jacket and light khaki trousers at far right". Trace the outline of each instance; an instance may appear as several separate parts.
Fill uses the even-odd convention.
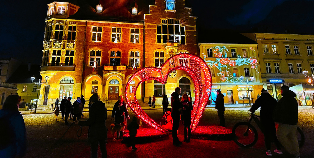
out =
[[[294,98],[296,94],[284,85],[281,87],[281,95],[282,98],[273,112],[273,120],[278,124],[276,135],[285,150],[299,157],[299,143],[296,136],[298,102]]]

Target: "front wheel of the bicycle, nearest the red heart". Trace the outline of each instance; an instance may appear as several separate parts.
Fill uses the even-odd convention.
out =
[[[257,130],[247,122],[239,122],[233,126],[232,134],[235,143],[244,148],[255,145],[258,138]]]

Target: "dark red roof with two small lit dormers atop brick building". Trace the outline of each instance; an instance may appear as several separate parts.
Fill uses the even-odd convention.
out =
[[[144,13],[149,13],[149,5],[154,5],[154,0],[135,0],[138,6],[138,15],[132,15],[134,0],[78,0],[78,12],[69,16],[69,19],[119,21],[119,22],[144,22]],[[96,13],[96,5],[103,6],[102,13]]]

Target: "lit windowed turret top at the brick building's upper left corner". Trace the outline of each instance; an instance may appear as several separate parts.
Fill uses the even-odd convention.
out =
[[[47,17],[49,18],[68,18],[79,9],[77,5],[68,2],[52,2],[47,5]]]

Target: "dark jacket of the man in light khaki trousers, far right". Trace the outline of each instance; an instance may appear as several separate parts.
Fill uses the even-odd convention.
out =
[[[296,94],[291,90],[282,93],[273,112],[273,120],[282,124],[296,125],[298,123],[298,102]]]

